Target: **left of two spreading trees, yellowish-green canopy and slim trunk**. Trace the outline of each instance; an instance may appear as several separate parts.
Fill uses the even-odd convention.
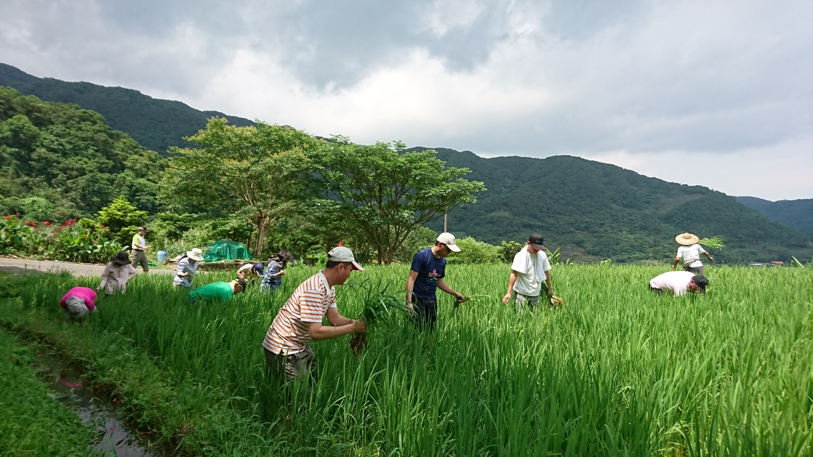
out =
[[[257,231],[259,256],[268,228],[307,196],[320,140],[293,127],[227,123],[209,119],[205,130],[186,138],[200,148],[172,149],[162,198],[171,206],[214,206],[244,218]]]

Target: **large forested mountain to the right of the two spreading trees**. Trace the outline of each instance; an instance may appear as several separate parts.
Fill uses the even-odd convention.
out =
[[[613,261],[668,260],[676,252],[675,235],[684,231],[724,235],[728,247],[715,252],[718,261],[789,261],[792,255],[809,258],[813,253],[810,234],[702,186],[667,183],[579,157],[483,158],[436,150],[447,166],[470,168],[466,178],[488,189],[477,205],[449,214],[449,230],[457,235],[498,243],[541,231],[552,247],[577,246]],[[440,230],[442,224],[438,219],[430,226]]]

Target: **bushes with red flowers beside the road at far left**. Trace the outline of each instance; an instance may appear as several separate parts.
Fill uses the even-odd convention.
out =
[[[108,238],[107,228],[86,228],[76,220],[54,226],[48,221],[23,221],[17,216],[0,219],[0,252],[41,257],[54,261],[104,262],[121,250]]]

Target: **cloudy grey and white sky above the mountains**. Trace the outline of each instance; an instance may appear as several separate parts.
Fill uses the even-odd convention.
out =
[[[3,0],[0,62],[357,142],[813,197],[813,2]]]

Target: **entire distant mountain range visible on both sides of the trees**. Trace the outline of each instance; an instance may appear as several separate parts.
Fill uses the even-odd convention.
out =
[[[252,124],[133,89],[38,78],[2,63],[0,86],[96,111],[114,130],[162,155],[170,146],[188,145],[183,136],[205,127],[211,116]],[[677,248],[674,237],[684,231],[701,237],[724,235],[727,248],[715,252],[718,261],[789,261],[813,253],[813,235],[804,231],[811,226],[809,203],[727,196],[580,157],[484,158],[470,151],[433,149],[448,166],[471,169],[466,178],[483,181],[488,189],[477,204],[449,213],[449,230],[455,235],[498,244],[523,241],[539,231],[547,245],[563,248],[564,257],[579,261],[670,260]],[[442,230],[442,218],[430,226]]]

